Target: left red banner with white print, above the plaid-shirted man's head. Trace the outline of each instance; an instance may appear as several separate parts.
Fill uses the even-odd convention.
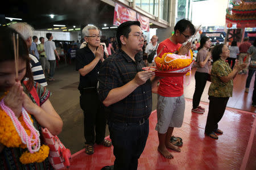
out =
[[[129,20],[137,20],[136,12],[122,5],[119,5],[118,3],[115,3],[113,25],[119,26],[123,22],[127,22]]]

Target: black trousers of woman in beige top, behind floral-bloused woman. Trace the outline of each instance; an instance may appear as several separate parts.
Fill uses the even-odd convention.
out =
[[[195,73],[196,88],[193,95],[193,109],[196,109],[199,106],[205,84],[207,83],[207,76],[208,73],[201,73],[197,71]]]

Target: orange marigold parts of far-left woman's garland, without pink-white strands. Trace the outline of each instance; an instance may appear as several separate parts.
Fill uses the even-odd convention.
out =
[[[7,93],[5,93],[6,95]],[[0,97],[2,100],[4,96]],[[30,114],[28,114],[30,116]],[[33,122],[31,116],[31,121]],[[3,111],[0,107],[0,143],[5,145],[6,147],[21,147],[26,148],[27,146],[22,143],[19,134],[17,133],[15,126],[13,125],[13,121],[8,116],[8,114]],[[26,130],[27,134],[30,135],[30,130],[27,128],[26,123],[23,121],[23,117],[20,116],[18,118],[24,129]],[[46,145],[42,145],[38,152],[34,152],[31,154],[30,152],[26,151],[20,156],[20,162],[22,164],[34,163],[34,162],[43,162],[49,155],[49,147]]]

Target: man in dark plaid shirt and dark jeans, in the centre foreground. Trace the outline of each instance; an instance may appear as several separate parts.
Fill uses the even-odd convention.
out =
[[[159,77],[143,71],[141,52],[144,36],[139,22],[125,22],[117,29],[119,51],[109,56],[100,69],[99,96],[108,108],[110,138],[115,162],[102,169],[137,169],[148,137],[152,109],[152,87]],[[150,80],[152,79],[152,82]]]

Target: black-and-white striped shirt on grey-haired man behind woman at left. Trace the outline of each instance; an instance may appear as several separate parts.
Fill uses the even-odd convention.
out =
[[[40,83],[42,86],[47,86],[46,77],[44,76],[44,71],[42,69],[41,63],[35,56],[31,54],[29,54],[29,56],[31,58],[30,67],[34,81]]]

